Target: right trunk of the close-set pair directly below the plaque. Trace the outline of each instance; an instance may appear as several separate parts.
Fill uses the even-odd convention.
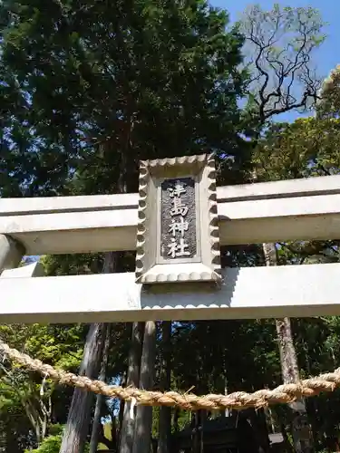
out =
[[[144,342],[141,354],[140,388],[150,390],[154,381],[156,361],[156,323],[145,323]],[[138,406],[133,442],[133,453],[151,452],[152,407]]]

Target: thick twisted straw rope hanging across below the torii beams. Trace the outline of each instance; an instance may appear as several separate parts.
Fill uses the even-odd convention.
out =
[[[12,361],[20,363],[30,371],[39,372],[46,378],[60,384],[69,385],[110,398],[133,401],[142,406],[172,406],[184,410],[224,410],[247,408],[263,408],[272,404],[288,404],[301,398],[316,396],[323,391],[334,391],[340,387],[340,369],[321,374],[315,378],[306,379],[292,384],[278,386],[274,390],[257,390],[254,393],[237,391],[228,395],[203,395],[192,393],[181,394],[177,391],[149,391],[133,387],[122,388],[110,386],[102,381],[92,381],[86,376],[78,376],[72,372],[56,370],[51,365],[32,359],[29,355],[16,351],[0,341],[0,353]]]

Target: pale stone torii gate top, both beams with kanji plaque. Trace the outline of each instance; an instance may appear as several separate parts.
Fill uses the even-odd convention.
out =
[[[219,267],[219,245],[339,237],[340,176],[216,188],[208,155],[142,162],[139,194],[0,199],[0,323],[340,314],[340,264]],[[127,250],[135,273],[15,269]]]

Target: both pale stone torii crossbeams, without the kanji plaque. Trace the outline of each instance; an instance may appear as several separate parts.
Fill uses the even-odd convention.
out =
[[[134,250],[139,199],[0,199],[0,270],[15,267],[24,254]],[[221,245],[340,237],[340,176],[221,187],[217,202]],[[150,287],[136,283],[133,273],[14,280],[15,272],[0,278],[1,323],[340,314],[340,264],[223,269],[219,286]]]

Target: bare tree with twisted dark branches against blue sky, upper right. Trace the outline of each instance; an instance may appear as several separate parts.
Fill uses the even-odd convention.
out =
[[[245,35],[249,112],[260,124],[287,111],[304,109],[315,102],[320,79],[311,54],[323,42],[323,22],[311,8],[264,11],[253,5],[239,23]]]

